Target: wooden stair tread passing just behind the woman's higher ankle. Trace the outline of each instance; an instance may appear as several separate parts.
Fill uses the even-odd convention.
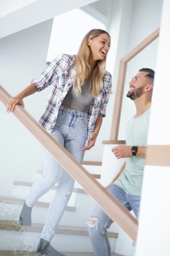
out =
[[[21,204],[23,205],[25,202],[25,199],[22,198],[17,198],[17,197],[5,197],[5,196],[0,196],[0,202],[2,203],[12,203],[12,204]],[[50,203],[45,203],[45,202],[36,202],[34,204],[36,207],[42,207],[42,208],[49,208]],[[75,212],[76,207],[72,206],[67,206],[65,210]]]

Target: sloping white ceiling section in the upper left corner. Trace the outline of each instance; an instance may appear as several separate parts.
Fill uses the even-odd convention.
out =
[[[0,38],[57,15],[91,4],[96,0],[0,0]],[[72,17],[70,25],[72,26]],[[59,26],[62,23],[58,24]]]

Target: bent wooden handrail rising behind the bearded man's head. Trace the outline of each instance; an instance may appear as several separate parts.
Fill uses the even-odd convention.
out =
[[[159,28],[157,28],[153,33],[151,33],[141,43],[139,43],[136,47],[130,50],[130,52],[128,52],[123,58],[120,59],[110,140],[118,139],[127,63],[131,59],[133,59],[138,53],[140,53],[143,49],[145,49],[150,43],[152,43],[157,37],[159,37]]]

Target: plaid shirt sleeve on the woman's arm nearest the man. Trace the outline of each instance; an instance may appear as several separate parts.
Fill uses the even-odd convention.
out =
[[[110,73],[107,74],[105,82],[108,83],[108,86],[107,86],[108,89],[104,90],[104,94],[103,94],[103,97],[102,97],[102,103],[103,104],[102,104],[101,110],[99,112],[99,114],[103,115],[103,117],[106,116],[106,107],[107,107],[109,97],[111,95],[111,90],[112,90],[112,76],[111,76]]]

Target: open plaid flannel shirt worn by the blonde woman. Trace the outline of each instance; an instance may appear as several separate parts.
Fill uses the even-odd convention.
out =
[[[39,123],[49,132],[52,132],[57,120],[58,110],[66,96],[68,90],[73,85],[76,67],[74,64],[74,55],[61,54],[55,58],[47,69],[37,78],[32,80],[32,84],[38,87],[38,91],[44,90],[51,85],[51,91],[47,99],[44,111],[40,117]],[[99,115],[106,116],[106,107],[112,89],[112,76],[106,71],[103,76],[103,88],[94,98],[88,111],[87,140],[94,132],[96,120]],[[85,146],[88,145],[86,140]]]

